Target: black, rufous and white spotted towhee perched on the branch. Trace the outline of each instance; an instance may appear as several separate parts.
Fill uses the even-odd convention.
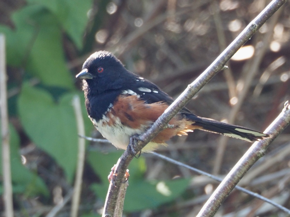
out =
[[[93,124],[120,149],[126,149],[130,137],[145,132],[173,102],[159,87],[128,71],[107,51],[93,53],[76,77],[83,79],[86,109]],[[259,131],[196,116],[186,107],[169,124],[173,127],[161,131],[142,151],[152,151],[171,137],[187,135],[194,129],[249,142],[269,137]]]

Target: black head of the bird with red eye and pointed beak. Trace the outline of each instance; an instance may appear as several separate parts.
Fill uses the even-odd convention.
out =
[[[82,71],[76,77],[84,79],[84,89],[98,94],[124,87],[132,75],[112,53],[98,51],[84,62]]]

